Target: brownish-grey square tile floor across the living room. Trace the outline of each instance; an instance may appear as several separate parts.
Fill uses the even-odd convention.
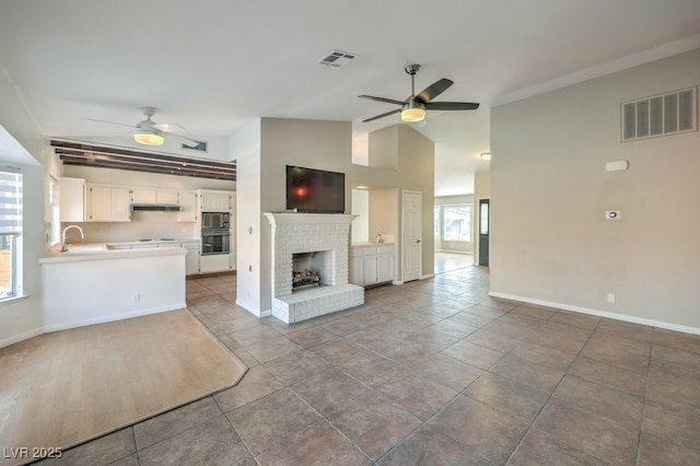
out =
[[[188,280],[243,381],[50,463],[700,464],[700,337],[491,299],[488,283],[470,266],[288,326],[236,308],[234,276]]]

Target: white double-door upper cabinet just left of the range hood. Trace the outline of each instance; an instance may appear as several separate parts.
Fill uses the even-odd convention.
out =
[[[128,187],[88,183],[85,195],[85,221],[131,221],[131,193]]]

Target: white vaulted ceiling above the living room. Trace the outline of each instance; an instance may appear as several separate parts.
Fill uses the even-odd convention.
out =
[[[435,101],[479,102],[431,112],[419,128],[436,147],[436,195],[472,189],[488,170],[494,104],[700,47],[698,0],[2,0],[0,71],[49,137],[117,138],[139,108],[184,136],[231,135],[259,117],[362,124],[440,78]],[[317,65],[331,49],[360,55]],[[234,154],[235,155],[235,154]]]

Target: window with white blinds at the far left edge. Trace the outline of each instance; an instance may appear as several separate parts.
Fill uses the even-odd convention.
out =
[[[21,294],[22,174],[0,167],[0,300]]]

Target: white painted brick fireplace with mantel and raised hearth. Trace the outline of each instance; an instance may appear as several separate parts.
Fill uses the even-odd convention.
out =
[[[272,315],[288,324],[364,303],[364,289],[348,283],[350,223],[342,213],[270,213]],[[320,287],[292,289],[294,256],[316,258]],[[298,259],[299,260],[299,259]]]

